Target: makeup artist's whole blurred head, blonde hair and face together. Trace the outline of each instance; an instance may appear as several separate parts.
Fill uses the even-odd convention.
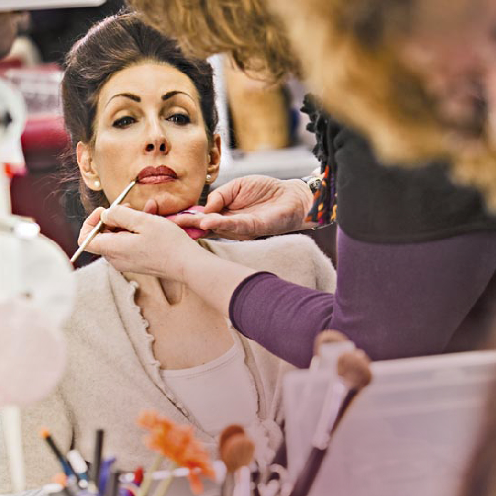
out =
[[[496,208],[494,1],[127,1],[198,56],[300,74],[381,159],[451,159]]]

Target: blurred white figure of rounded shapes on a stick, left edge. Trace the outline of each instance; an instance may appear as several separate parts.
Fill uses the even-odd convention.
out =
[[[11,215],[6,169],[25,166],[26,120],[20,92],[0,80],[0,422],[14,493],[25,489],[18,406],[43,398],[62,376],[62,323],[75,293],[62,249],[40,235],[38,224]]]

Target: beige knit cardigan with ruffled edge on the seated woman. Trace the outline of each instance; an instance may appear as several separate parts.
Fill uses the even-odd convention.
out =
[[[286,235],[247,242],[204,242],[221,258],[260,271],[274,272],[293,283],[333,292],[336,274],[330,260],[303,235]],[[196,436],[215,454],[216,440],[181,410],[159,373],[147,332],[129,283],[106,260],[74,273],[75,308],[65,325],[67,368],[57,390],[22,412],[28,488],[50,482],[60,466],[39,432],[48,428],[63,451],[73,446],[92,459],[95,429],[105,429],[105,452],[118,457],[123,469],[149,466],[153,454],[143,444],[136,418],[144,409],[157,410],[175,422],[191,423]],[[187,315],[185,315],[185,325]],[[167,322],[164,322],[167,325]],[[281,376],[289,365],[242,337],[246,364],[258,393],[258,417],[275,448],[280,431]],[[179,408],[178,408],[179,407]],[[221,408],[221,406],[219,406]],[[0,494],[10,491],[7,461],[0,435]]]

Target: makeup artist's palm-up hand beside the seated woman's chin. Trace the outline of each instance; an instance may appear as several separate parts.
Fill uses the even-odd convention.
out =
[[[247,176],[212,191],[204,215],[182,215],[174,222],[247,240],[310,227],[304,219],[311,204],[312,194],[303,181]]]

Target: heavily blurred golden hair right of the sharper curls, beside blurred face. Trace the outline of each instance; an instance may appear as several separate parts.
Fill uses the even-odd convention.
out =
[[[464,129],[446,122],[422,75],[398,50],[416,25],[429,22],[429,8],[420,12],[418,0],[267,1],[288,26],[303,72],[329,111],[363,130],[386,162],[414,167],[419,159],[449,159],[454,182],[478,187],[496,211],[489,121],[474,131],[476,144],[464,139]]]

